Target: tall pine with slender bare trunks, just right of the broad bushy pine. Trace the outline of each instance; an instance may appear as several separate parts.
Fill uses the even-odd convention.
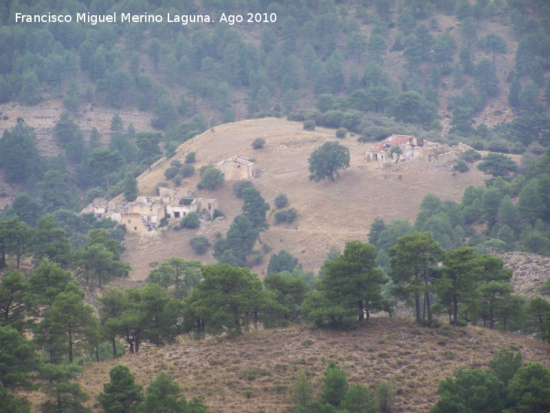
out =
[[[417,321],[421,321],[421,297],[428,320],[432,319],[430,293],[437,278],[437,264],[443,257],[443,248],[431,233],[410,233],[397,238],[388,248],[391,257],[391,277],[403,297],[415,300]]]

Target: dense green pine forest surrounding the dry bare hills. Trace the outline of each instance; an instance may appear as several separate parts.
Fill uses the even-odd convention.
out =
[[[85,366],[124,363],[125,354],[184,336],[241,339],[296,325],[351,334],[371,317],[410,316],[419,329],[483,326],[549,339],[550,282],[535,297],[518,295],[501,257],[550,256],[547,1],[9,0],[0,5],[0,45],[1,413],[206,412],[208,397],[187,401],[166,373],[144,392],[115,366],[96,401],[78,381]],[[63,111],[51,134],[10,116],[16,107],[40,115],[53,102]],[[108,114],[108,130],[83,126],[94,112]],[[147,122],[133,125],[122,112]],[[463,142],[472,149],[456,158],[453,176],[475,169],[487,179],[460,203],[429,193],[414,222],[376,218],[362,240],[303,268],[284,244],[272,251],[261,237],[270,222],[292,225],[306,211],[284,189],[270,205],[253,181],[223,182],[211,165],[195,170],[190,152],[169,161],[163,184],[200,176],[199,190],[229,186],[242,202],[227,233],[189,240],[218,264],[151,257],[143,288],[120,286],[132,271],[121,257],[125,227],[79,211],[96,198],[135,200],[136,178],[203,132],[267,117],[335,129],[335,142],[311,153],[311,185],[345,184],[339,171],[350,156],[339,138],[391,134]],[[261,150],[265,140],[251,143]],[[188,231],[217,217],[223,207],[160,226]],[[251,268],[263,257],[259,279]],[[488,368],[441,381],[430,412],[547,411],[544,363],[498,350]],[[395,383],[348,384],[344,368],[325,364],[318,379],[295,370],[281,385],[281,411],[395,411],[403,394]]]

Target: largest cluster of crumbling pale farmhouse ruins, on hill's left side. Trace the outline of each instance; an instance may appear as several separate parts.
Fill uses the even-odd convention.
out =
[[[165,216],[168,220],[183,218],[190,212],[212,216],[217,209],[217,200],[192,195],[189,190],[159,187],[159,195],[139,196],[134,202],[109,202],[96,198],[82,212],[94,213],[100,220],[111,218],[124,224],[129,233],[146,233],[157,229]]]

